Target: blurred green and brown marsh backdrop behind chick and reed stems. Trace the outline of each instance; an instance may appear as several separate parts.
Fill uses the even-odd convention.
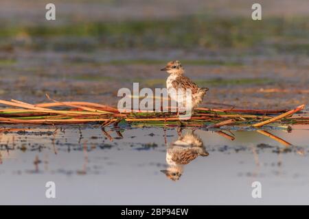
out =
[[[56,5],[56,21],[45,5]],[[262,5],[262,21],[251,6]],[[1,0],[0,99],[116,105],[165,87],[166,62],[207,86],[208,107],[308,103],[308,0]]]

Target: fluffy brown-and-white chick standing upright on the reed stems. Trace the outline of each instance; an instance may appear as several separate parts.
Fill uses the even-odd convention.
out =
[[[185,69],[179,60],[168,62],[165,68],[161,70],[165,70],[170,74],[166,80],[166,88],[172,100],[176,101],[179,105],[183,104],[185,107],[185,98],[187,97],[185,96],[185,90],[190,88],[192,92],[192,109],[203,101],[203,97],[209,88],[199,88],[189,77],[183,76]],[[181,90],[181,92],[174,92],[175,90]]]

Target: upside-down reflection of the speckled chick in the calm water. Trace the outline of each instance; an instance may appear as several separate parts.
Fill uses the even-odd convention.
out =
[[[172,142],[166,150],[166,163],[168,168],[161,170],[168,179],[177,181],[183,175],[183,168],[186,164],[192,162],[199,155],[206,157],[209,153],[206,151],[201,138],[190,130],[179,139]]]

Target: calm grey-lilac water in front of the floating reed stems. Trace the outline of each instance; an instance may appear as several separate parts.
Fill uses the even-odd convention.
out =
[[[187,129],[106,128],[107,135],[90,126],[14,129],[1,132],[1,204],[309,202],[308,126],[268,130],[293,146],[256,131],[225,130],[231,141],[195,130],[209,155],[183,165],[176,181],[160,170],[168,167],[167,146]],[[56,183],[56,198],[45,198],[47,181]],[[252,198],[253,181],[262,183],[262,198]]]

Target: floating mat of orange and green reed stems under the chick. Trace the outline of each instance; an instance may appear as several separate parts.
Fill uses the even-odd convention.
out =
[[[0,123],[3,124],[80,124],[100,123],[103,127],[119,123],[137,126],[192,126],[219,128],[225,126],[259,128],[264,125],[288,126],[309,125],[309,114],[305,105],[293,110],[240,110],[196,108],[190,118],[183,119],[175,112],[128,112],[99,103],[77,101],[55,101],[30,104],[21,101],[0,100]]]

